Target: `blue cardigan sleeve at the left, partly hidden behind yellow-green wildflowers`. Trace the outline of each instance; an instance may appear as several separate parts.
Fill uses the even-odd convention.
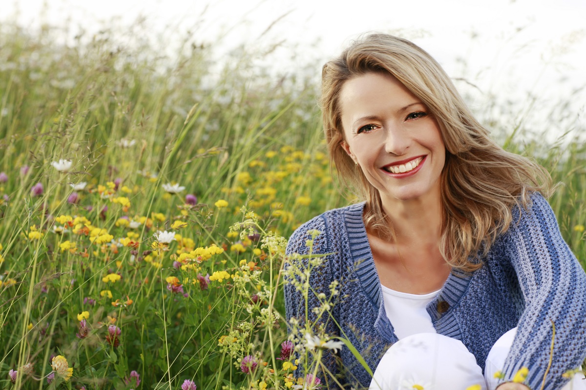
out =
[[[319,232],[319,233],[318,233]],[[312,239],[312,233],[316,234]],[[329,256],[331,254],[331,233],[328,232],[325,218],[316,217],[299,227],[292,234],[287,244],[287,263],[284,272],[284,293],[285,312],[289,333],[295,338],[294,344],[306,344],[304,331],[309,329],[311,334],[316,334],[319,329],[328,334],[329,337],[338,336],[338,326],[333,320],[332,309],[325,310],[322,315],[316,312],[323,308],[324,302],[330,300],[330,284],[332,282],[331,271],[329,270]],[[312,244],[310,242],[312,241]],[[301,255],[301,256],[297,256]],[[317,261],[316,261],[317,260]],[[316,263],[321,263],[316,265]],[[308,284],[304,287],[305,275],[309,274]],[[333,305],[332,305],[333,306]],[[332,350],[324,349],[323,356],[319,362],[317,377],[321,379],[322,385],[326,388],[338,388],[334,379],[338,374],[335,354]],[[315,351],[308,351],[306,360],[295,371],[300,377],[305,372],[302,366],[313,372]],[[299,353],[297,353],[299,358]]]

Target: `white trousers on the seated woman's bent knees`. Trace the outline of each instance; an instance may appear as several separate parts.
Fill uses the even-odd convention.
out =
[[[503,334],[490,349],[485,374],[462,341],[435,333],[404,337],[384,354],[369,390],[465,390],[481,385],[495,390],[495,372],[502,370],[517,328]],[[586,390],[584,375],[575,374],[562,390]]]

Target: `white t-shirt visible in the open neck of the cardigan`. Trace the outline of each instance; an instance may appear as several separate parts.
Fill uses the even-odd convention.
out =
[[[383,288],[384,310],[399,340],[416,333],[437,333],[425,306],[440,290],[417,295],[394,291],[383,285],[380,287]]]

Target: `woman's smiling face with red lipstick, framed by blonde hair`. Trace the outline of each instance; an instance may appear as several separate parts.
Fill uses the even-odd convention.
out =
[[[383,205],[439,198],[445,146],[420,99],[391,75],[367,73],[346,81],[340,109],[342,147]]]

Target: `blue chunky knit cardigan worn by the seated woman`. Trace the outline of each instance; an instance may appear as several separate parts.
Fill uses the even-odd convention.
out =
[[[311,308],[319,306],[318,294],[329,297],[329,284],[339,282],[339,295],[322,316],[331,336],[342,336],[359,351],[374,372],[384,352],[396,342],[393,325],[384,310],[379,277],[363,222],[364,203],[330,210],[299,227],[287,254],[307,254],[309,230],[319,230],[313,253],[328,254],[310,277]],[[307,259],[293,260],[307,267]],[[529,368],[526,384],[545,390],[560,389],[565,371],[586,358],[586,274],[561,237],[553,210],[541,196],[532,195],[529,211],[515,207],[513,223],[493,243],[483,265],[472,273],[454,270],[437,298],[427,305],[437,333],[461,340],[484,369],[486,356],[496,340],[518,326],[503,367],[503,381],[510,381],[521,367]],[[322,295],[323,297],[323,295]],[[326,298],[328,299],[328,298]],[[285,284],[287,320],[303,322],[304,297]],[[324,318],[327,317],[327,318]],[[553,363],[547,371],[555,325]],[[349,348],[326,350],[322,384],[338,388],[331,375],[356,389],[370,384],[370,375]],[[329,374],[328,374],[329,371]]]

